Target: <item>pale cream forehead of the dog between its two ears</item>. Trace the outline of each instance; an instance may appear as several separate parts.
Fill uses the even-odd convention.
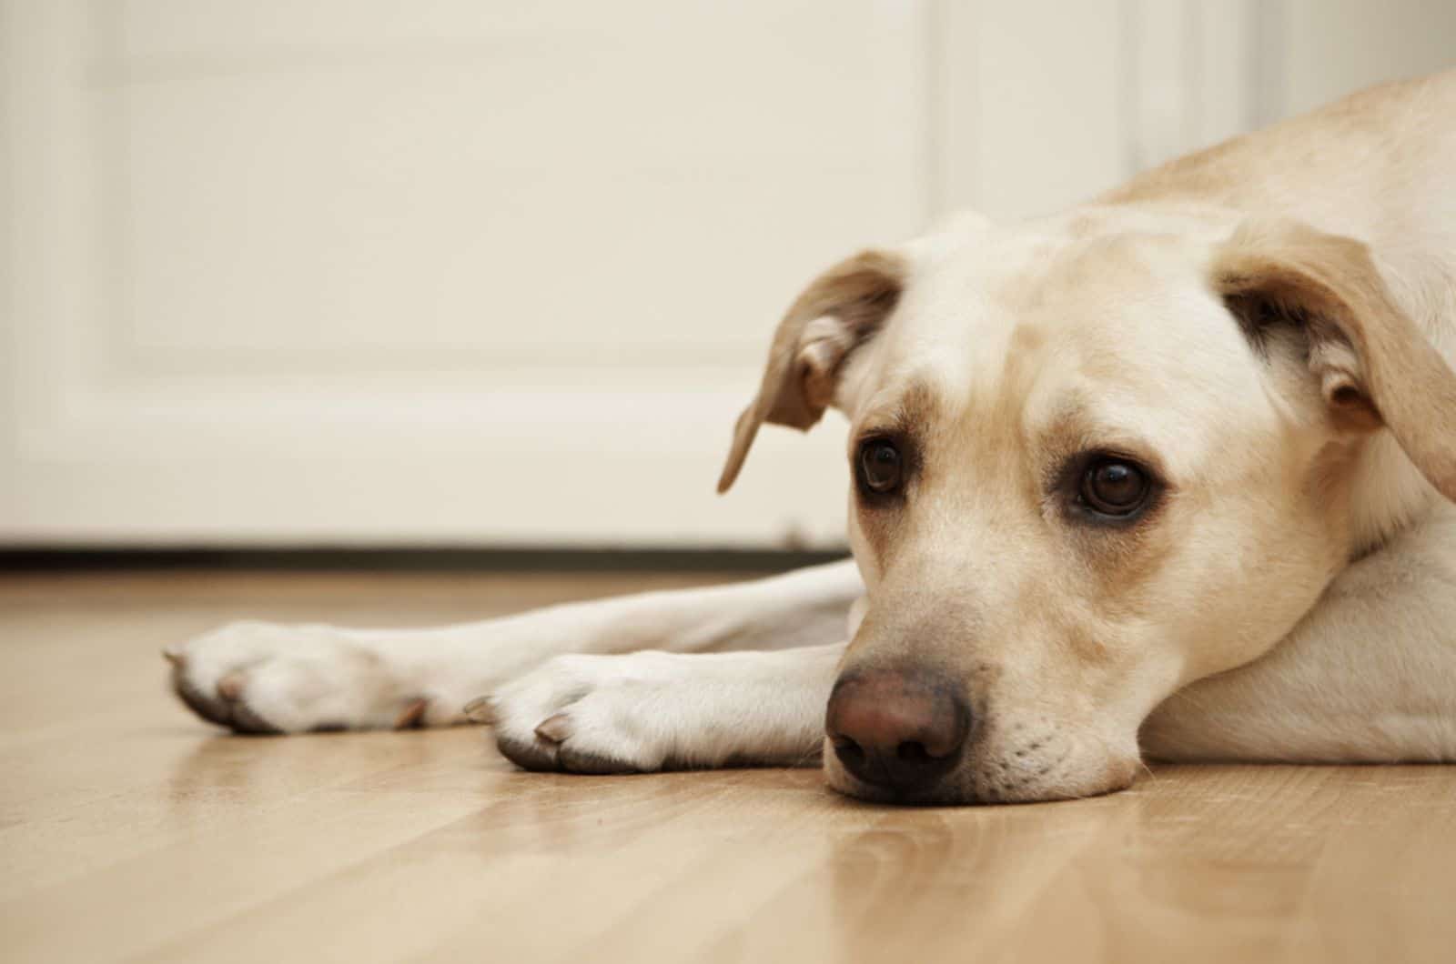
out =
[[[922,409],[1013,418],[1022,435],[1070,422],[1169,447],[1211,414],[1257,409],[1257,367],[1204,281],[1207,250],[1086,218],[933,237],[885,345],[881,402],[913,392]]]

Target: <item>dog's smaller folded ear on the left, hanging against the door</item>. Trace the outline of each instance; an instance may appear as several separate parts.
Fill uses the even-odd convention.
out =
[[[821,274],[794,301],[773,336],[759,395],[738,416],[719,492],[738,478],[759,425],[808,430],[824,415],[844,358],[894,310],[907,274],[901,255],[865,250]]]

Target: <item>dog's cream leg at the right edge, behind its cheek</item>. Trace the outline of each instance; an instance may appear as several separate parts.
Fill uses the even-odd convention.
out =
[[[1163,760],[1456,760],[1456,507],[1354,562],[1271,652],[1143,724]]]

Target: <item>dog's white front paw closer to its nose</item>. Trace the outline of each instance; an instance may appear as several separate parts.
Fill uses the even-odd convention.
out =
[[[646,773],[687,760],[665,652],[556,657],[489,700],[501,753],[527,770]]]

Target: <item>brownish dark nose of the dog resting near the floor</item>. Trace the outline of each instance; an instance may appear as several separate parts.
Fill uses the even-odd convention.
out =
[[[884,789],[925,788],[955,767],[971,731],[971,708],[925,670],[842,676],[824,730],[844,769]]]

